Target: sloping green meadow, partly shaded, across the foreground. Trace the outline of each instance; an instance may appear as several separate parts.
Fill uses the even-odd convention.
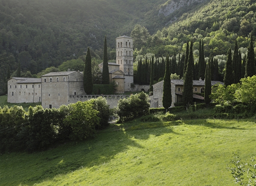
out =
[[[253,121],[112,125],[95,139],[33,154],[0,155],[1,186],[231,186],[233,152],[255,156]]]

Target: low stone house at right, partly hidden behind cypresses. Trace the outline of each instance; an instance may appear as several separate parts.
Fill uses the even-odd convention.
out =
[[[212,86],[215,84],[224,84],[220,81],[212,81]],[[172,107],[174,103],[182,102],[183,92],[183,80],[171,80],[171,92],[172,92]],[[193,92],[203,93],[204,92],[204,81],[193,80]],[[204,100],[204,97],[194,94],[194,99],[197,101]],[[150,96],[151,108],[163,107],[163,80],[153,85],[153,95]]]

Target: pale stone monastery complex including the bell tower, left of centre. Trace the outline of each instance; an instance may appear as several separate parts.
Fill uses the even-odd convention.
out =
[[[103,68],[103,64],[99,64]],[[133,83],[133,39],[116,38],[116,63],[108,63],[110,81],[115,81],[116,93],[131,91]],[[83,73],[76,71],[50,72],[41,78],[12,77],[8,80],[9,103],[41,102],[43,108],[58,108],[62,104],[85,101]]]

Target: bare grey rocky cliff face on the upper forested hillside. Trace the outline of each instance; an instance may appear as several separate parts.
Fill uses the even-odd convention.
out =
[[[185,6],[191,6],[194,4],[203,3],[206,0],[172,0],[167,5],[161,7],[159,10],[159,14],[163,14],[164,16],[168,16],[172,14],[174,11],[181,9]]]

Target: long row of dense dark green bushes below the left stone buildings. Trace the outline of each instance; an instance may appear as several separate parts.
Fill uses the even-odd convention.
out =
[[[0,152],[40,151],[64,140],[83,140],[108,125],[109,106],[102,97],[62,105],[0,107]]]

